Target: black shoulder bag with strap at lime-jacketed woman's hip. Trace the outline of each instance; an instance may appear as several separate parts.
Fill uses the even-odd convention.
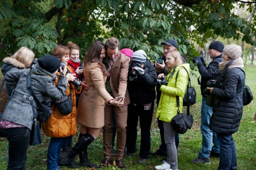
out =
[[[176,76],[176,82],[177,82],[178,73]],[[189,91],[188,91],[188,85],[187,85],[187,99],[189,99],[188,93]],[[177,102],[177,108],[178,108],[177,115],[174,116],[173,119],[171,120],[171,126],[173,126],[173,129],[175,130],[175,132],[179,134],[184,134],[185,132],[187,132],[188,129],[191,129],[193,125],[193,116],[190,115],[190,102],[189,100],[187,100],[187,114],[186,113],[181,114],[179,111],[179,106],[180,106],[179,96],[176,96],[176,102]]]

